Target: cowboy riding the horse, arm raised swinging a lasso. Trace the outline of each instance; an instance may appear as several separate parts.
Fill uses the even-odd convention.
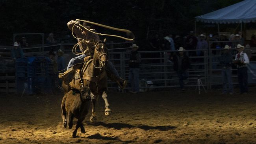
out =
[[[94,52],[95,42],[100,41],[99,36],[93,33],[96,31],[94,29],[91,29],[91,26],[88,26],[87,22],[83,22],[82,24],[83,27],[81,27],[79,24],[80,24],[79,20],[76,20],[76,21],[71,20],[67,23],[69,30],[73,31],[76,37],[78,38],[79,48],[82,54],[72,58],[69,61],[69,64],[67,66],[67,71],[64,72],[65,73],[64,75],[61,73],[59,74],[59,78],[63,79],[66,85],[69,85],[69,82],[72,80],[72,77],[73,77],[71,74],[69,75],[69,73],[72,73],[75,71],[75,69],[71,70],[70,68],[77,63],[83,63],[85,57],[90,56],[91,52]],[[117,84],[121,89],[124,89],[126,87],[127,81],[119,77],[117,70],[114,68],[113,64],[110,61],[108,61],[106,71],[108,73],[107,74],[108,77],[112,81],[117,82]]]

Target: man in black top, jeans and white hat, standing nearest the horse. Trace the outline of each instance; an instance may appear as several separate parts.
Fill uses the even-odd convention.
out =
[[[129,81],[132,86],[130,92],[137,94],[139,92],[139,63],[141,62],[141,55],[137,52],[139,46],[133,44],[131,46],[132,52],[129,61]]]

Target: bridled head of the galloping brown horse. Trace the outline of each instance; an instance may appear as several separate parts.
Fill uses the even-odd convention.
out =
[[[93,59],[96,65],[99,65],[100,68],[104,68],[108,63],[108,48],[106,45],[106,39],[104,42],[98,41],[95,44],[95,50]]]

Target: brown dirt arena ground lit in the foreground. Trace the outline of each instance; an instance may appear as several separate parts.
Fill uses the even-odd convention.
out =
[[[83,134],[72,138],[62,128],[63,95],[3,94],[0,96],[1,144],[256,144],[256,87],[247,95],[221,95],[194,90],[109,92],[113,113],[104,116],[104,101],[97,105],[98,120],[84,121]],[[235,89],[238,92],[238,89]]]

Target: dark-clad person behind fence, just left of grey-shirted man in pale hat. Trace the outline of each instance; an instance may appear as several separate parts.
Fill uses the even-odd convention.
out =
[[[189,35],[185,40],[186,50],[195,50],[197,41],[197,38],[194,36],[194,31],[189,31]],[[195,55],[195,52],[191,52],[189,55]]]

